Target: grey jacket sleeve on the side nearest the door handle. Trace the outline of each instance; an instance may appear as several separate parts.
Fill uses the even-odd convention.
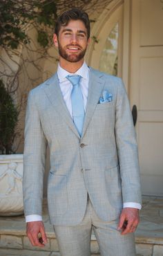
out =
[[[141,204],[140,170],[136,134],[128,97],[121,79],[119,79],[117,89],[115,138],[120,176],[122,179],[123,202]]]

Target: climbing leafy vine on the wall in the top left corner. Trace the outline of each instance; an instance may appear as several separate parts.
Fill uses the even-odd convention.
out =
[[[46,1],[0,1],[0,45],[18,48],[20,43],[29,42],[26,26],[29,23],[39,28],[38,42],[41,46],[48,46],[48,33],[43,26],[54,26],[57,18],[55,0]]]

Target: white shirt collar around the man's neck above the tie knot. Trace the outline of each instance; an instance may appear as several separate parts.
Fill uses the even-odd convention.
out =
[[[89,72],[89,68],[86,64],[86,62],[84,62],[84,64],[81,66],[81,68],[79,68],[75,73],[69,73],[68,71],[66,71],[66,69],[61,68],[61,66],[58,64],[58,68],[57,68],[57,75],[59,78],[59,82],[62,82],[66,79],[67,75],[81,75],[81,77],[88,79],[88,72]]]

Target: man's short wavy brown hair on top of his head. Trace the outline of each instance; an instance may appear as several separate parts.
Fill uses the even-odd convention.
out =
[[[89,17],[88,14],[86,12],[84,12],[84,10],[79,10],[77,8],[73,8],[71,10],[68,10],[64,13],[62,13],[58,19],[57,22],[55,24],[55,34],[59,35],[59,30],[61,28],[61,26],[67,26],[68,22],[73,19],[73,20],[81,20],[83,21],[84,25],[86,26],[86,30],[87,30],[87,39],[89,39],[90,37],[90,21],[89,21]]]

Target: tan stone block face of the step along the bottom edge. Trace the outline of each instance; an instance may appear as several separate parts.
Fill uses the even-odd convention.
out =
[[[18,228],[18,227],[17,227]],[[2,233],[2,232],[1,232]],[[5,232],[6,234],[1,234],[0,236],[0,256],[10,256],[10,255],[22,255],[22,256],[32,256],[32,255],[44,255],[44,256],[59,256],[59,248],[57,245],[57,240],[55,234],[52,232],[47,232],[48,244],[45,248],[34,248],[31,246],[28,237],[26,237],[25,230],[15,230],[11,232]],[[136,251],[137,256],[163,256],[163,244],[161,239],[143,239],[141,237],[135,237],[136,240]],[[162,239],[163,240],[163,239]],[[91,253],[92,255],[99,255],[99,247],[95,236],[92,235],[91,239]]]

